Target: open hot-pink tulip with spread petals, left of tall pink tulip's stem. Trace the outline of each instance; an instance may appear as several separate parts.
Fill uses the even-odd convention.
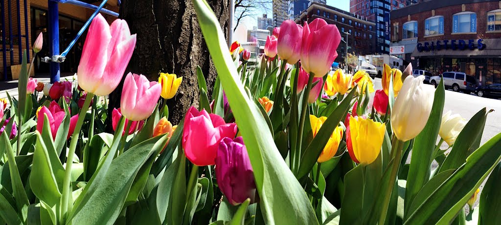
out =
[[[49,108],[46,106],[42,106],[39,111],[39,117],[37,121],[37,130],[42,133],[44,128],[44,115],[47,115],[49,118],[49,124],[51,127],[52,138],[56,139],[56,134],[58,132],[59,126],[63,122],[63,118],[66,115],[64,109],[62,109],[56,101],[51,101]],[[70,118],[70,130],[68,131],[68,136],[66,139],[70,138],[75,130],[75,126],[77,124],[78,114],[74,115]]]

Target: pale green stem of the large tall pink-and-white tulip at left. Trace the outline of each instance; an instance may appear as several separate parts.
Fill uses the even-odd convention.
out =
[[[87,93],[85,97],[84,105],[82,110],[78,115],[78,121],[75,126],[75,131],[73,131],[73,135],[71,137],[70,150],[68,152],[68,158],[66,159],[66,170],[64,174],[64,182],[63,182],[63,193],[61,198],[61,217],[64,218],[66,213],[68,212],[68,205],[70,203],[70,194],[71,192],[71,167],[73,165],[73,156],[75,155],[75,148],[77,147],[78,136],[80,134],[80,129],[82,129],[82,124],[84,123],[85,115],[87,114],[87,110],[91,104],[91,100],[94,97],[93,93]]]

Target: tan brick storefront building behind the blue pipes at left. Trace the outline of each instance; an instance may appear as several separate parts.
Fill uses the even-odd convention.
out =
[[[20,55],[20,52],[23,52],[24,49],[28,49],[28,55],[30,56],[28,61],[30,61],[33,56],[33,49],[31,48],[40,32],[44,35],[44,46],[37,54],[34,69],[37,73],[49,72],[49,64],[40,62],[40,57],[51,56],[49,35],[47,33],[49,22],[48,1],[0,0],[3,6],[2,12],[4,12],[4,20],[0,21],[0,49],[2,49],[0,52],[0,80],[4,79],[5,73],[8,74],[7,77],[10,79],[11,65],[21,64],[22,55]],[[95,0],[86,0],[86,2],[95,2],[96,5],[100,3]],[[118,12],[117,0],[108,0],[104,8]],[[59,4],[60,51],[68,46],[93,12],[93,9],[69,3]],[[116,17],[104,13],[103,16],[110,23],[116,19]],[[61,72],[76,72],[85,34],[86,32],[68,53],[66,60],[60,64]],[[3,47],[4,44],[5,47]]]

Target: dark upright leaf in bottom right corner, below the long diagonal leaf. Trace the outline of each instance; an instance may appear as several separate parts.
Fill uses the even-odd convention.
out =
[[[501,163],[497,163],[497,166],[492,170],[489,179],[487,179],[487,182],[483,186],[478,205],[480,209],[478,224],[501,221],[501,213],[499,213],[499,208],[501,208],[501,192],[499,191],[499,188],[501,188],[501,179],[499,177],[501,177]]]

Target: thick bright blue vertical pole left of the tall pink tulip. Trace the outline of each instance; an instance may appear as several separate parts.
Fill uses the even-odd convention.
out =
[[[49,16],[48,16],[48,29],[49,40],[52,41],[49,46],[51,47],[52,55],[59,55],[59,5],[57,1],[49,1]],[[59,81],[60,70],[59,62],[51,61],[51,83]]]

